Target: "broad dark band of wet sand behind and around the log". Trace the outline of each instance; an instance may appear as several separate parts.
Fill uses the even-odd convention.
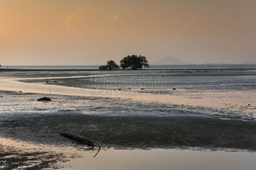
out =
[[[6,116],[6,117],[5,117]],[[84,114],[2,115],[1,137],[41,144],[68,144],[70,132],[102,147],[256,150],[255,121],[207,116],[100,116]]]

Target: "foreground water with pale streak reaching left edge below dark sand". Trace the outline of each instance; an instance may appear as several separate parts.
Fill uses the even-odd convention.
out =
[[[209,151],[207,149],[113,149],[101,148],[100,150],[87,150],[80,146],[51,146],[28,142],[14,141],[3,138],[0,144],[9,147],[20,148],[21,151],[36,150],[54,153],[65,153],[73,158],[68,162],[58,162],[55,167],[61,170],[110,170],[110,169],[174,169],[174,170],[240,170],[255,169],[256,152],[245,151]],[[46,149],[47,148],[47,149]],[[29,161],[28,161],[29,162]],[[29,162],[28,165],[36,165],[38,161]],[[0,166],[4,168],[5,166]],[[20,166],[26,168],[28,166]],[[47,168],[46,168],[47,169]],[[50,168],[49,168],[50,169]]]

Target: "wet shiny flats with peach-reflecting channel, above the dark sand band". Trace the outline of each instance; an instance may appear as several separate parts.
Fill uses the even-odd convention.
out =
[[[0,98],[3,106],[0,110],[2,112],[33,112],[31,108],[40,106],[39,110],[35,111],[81,111],[85,110],[83,106],[88,109],[86,106],[90,104],[92,108],[89,109],[89,112],[83,111],[83,113],[95,113],[92,111],[93,108],[108,105],[104,114],[107,112],[109,115],[115,115],[116,108],[119,108],[120,113],[124,111],[123,114],[126,114],[127,109],[130,110],[134,106],[134,109],[140,108],[142,114],[162,113],[166,115],[172,109],[172,114],[179,114],[180,110],[180,112],[188,111],[190,114],[240,116],[244,120],[254,119],[256,116],[255,72],[168,73],[164,74],[166,76],[164,83],[156,86],[152,86],[152,72],[143,74],[141,80],[143,84],[140,85],[132,84],[132,78],[136,75],[134,73],[84,76],[76,76],[75,73],[70,77],[66,77],[66,73],[60,77],[59,72],[57,73],[59,77],[52,75],[52,77],[45,78],[30,78],[26,74],[21,78],[4,77],[0,79],[0,90],[15,91],[19,96],[13,93],[12,97],[7,95],[9,96],[8,100],[5,100],[7,96]],[[159,84],[159,78],[162,78],[163,73],[155,75],[159,76],[157,77]],[[116,78],[120,77],[122,79],[119,84],[116,84],[118,81]],[[105,84],[92,85],[92,81],[95,79],[102,79]],[[55,80],[57,82],[54,82]],[[142,87],[144,89],[141,89]],[[122,90],[117,90],[119,88]],[[176,88],[176,90],[172,88]],[[22,95],[26,93],[46,94],[53,101],[52,103],[38,104],[33,96],[30,95],[30,98],[28,95]],[[36,96],[40,98],[39,95]],[[108,98],[108,100],[101,100],[102,103],[88,103],[83,97],[87,97],[86,100],[94,97]],[[29,102],[24,105],[23,100],[27,99]],[[65,102],[63,102],[64,99]],[[123,101],[122,107],[120,107],[120,100]],[[72,107],[70,107],[71,104]],[[15,105],[16,107],[12,107]],[[47,106],[46,110],[44,110],[44,105]],[[133,111],[129,114],[136,113],[137,111]]]

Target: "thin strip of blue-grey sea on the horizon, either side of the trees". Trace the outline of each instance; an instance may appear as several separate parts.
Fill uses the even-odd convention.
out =
[[[49,66],[1,66],[5,69],[98,69],[99,65],[49,65]],[[255,64],[221,64],[221,65],[150,65],[144,69],[252,69]]]

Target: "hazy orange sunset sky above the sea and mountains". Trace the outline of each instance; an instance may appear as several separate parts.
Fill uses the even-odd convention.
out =
[[[255,0],[0,0],[1,65],[256,62]]]

